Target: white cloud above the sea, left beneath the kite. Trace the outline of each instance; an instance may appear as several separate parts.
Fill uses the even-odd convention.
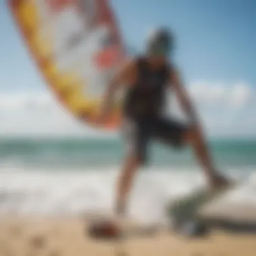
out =
[[[104,135],[77,121],[51,94],[0,94],[1,135]]]

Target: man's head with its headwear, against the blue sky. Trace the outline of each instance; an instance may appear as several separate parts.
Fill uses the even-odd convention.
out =
[[[148,57],[157,60],[168,58],[173,48],[172,34],[166,28],[156,28],[150,32],[146,40]]]

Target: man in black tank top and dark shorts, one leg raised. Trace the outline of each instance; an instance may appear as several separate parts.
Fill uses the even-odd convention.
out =
[[[190,144],[211,186],[226,185],[218,174],[203,138],[197,115],[181,82],[179,71],[168,61],[173,38],[168,30],[159,28],[150,34],[146,55],[131,60],[110,83],[104,96],[100,119],[111,107],[121,86],[127,92],[123,106],[123,131],[127,152],[117,188],[117,214],[125,214],[127,195],[136,170],[146,162],[148,142],[158,139],[173,147]],[[191,125],[185,126],[162,115],[166,88],[172,88],[187,113]]]

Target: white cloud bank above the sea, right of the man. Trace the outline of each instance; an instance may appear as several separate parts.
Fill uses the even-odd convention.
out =
[[[246,82],[199,82],[191,84],[189,92],[211,135],[256,135],[256,91]]]

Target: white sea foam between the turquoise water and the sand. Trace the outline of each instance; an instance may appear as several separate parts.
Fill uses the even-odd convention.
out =
[[[111,211],[118,168],[71,172],[22,170],[0,171],[0,214],[79,215],[91,210]],[[241,178],[241,171],[232,170]],[[243,173],[244,174],[244,173]],[[227,201],[247,201],[256,207],[256,173],[247,172],[243,185],[228,193]],[[129,201],[129,213],[137,220],[164,220],[166,203],[205,185],[196,170],[150,169],[139,172]]]

